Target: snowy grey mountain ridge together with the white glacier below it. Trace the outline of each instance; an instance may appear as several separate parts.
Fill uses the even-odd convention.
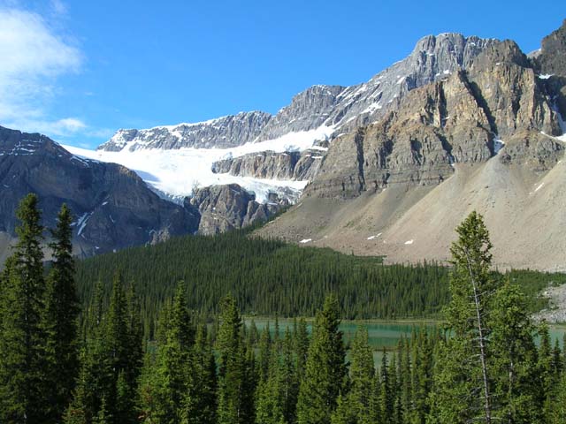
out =
[[[123,164],[158,193],[177,199],[197,187],[237,184],[260,202],[268,201],[270,193],[294,202],[314,178],[336,135],[379,120],[410,90],[465,69],[494,43],[462,34],[429,35],[417,42],[409,57],[370,81],[353,87],[310,87],[275,116],[241,112],[195,124],[119,130],[96,152],[66,148],[75,155]],[[314,155],[307,152],[313,149]],[[289,162],[297,153],[299,157]],[[226,161],[231,165],[226,167]]]

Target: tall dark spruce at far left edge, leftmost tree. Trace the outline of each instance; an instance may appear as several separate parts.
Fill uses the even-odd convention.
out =
[[[18,242],[5,262],[0,292],[0,421],[40,423],[49,399],[41,322],[43,227],[35,194],[20,202],[16,216]]]

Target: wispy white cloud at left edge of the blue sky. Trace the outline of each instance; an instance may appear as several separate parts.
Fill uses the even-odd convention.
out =
[[[66,13],[59,0],[51,6]],[[34,11],[0,8],[0,22],[0,125],[53,136],[84,131],[79,118],[51,117],[49,110],[57,78],[80,71],[80,50]]]

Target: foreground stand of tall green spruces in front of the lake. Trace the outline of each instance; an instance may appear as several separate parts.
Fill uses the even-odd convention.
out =
[[[456,229],[447,276],[450,300],[443,308],[446,328],[415,329],[396,352],[384,352],[381,364],[373,363],[366,329],[345,345],[339,325],[348,303],[333,293],[334,286],[326,288],[330,294],[309,336],[303,319],[285,332],[277,320],[273,334],[269,327],[246,329],[239,300],[230,295],[220,299],[218,314],[203,314],[191,307],[195,284],[181,280],[153,304],[157,319],[148,338],[149,294],[116,267],[110,281],[93,288],[79,327],[69,210],[61,209],[51,231],[54,260],[47,272],[34,195],[22,201],[18,216],[19,242],[0,279],[0,422],[566,420],[566,353],[551,344],[544,324],[531,321],[532,304],[524,285],[516,284],[520,278],[490,271],[491,243],[478,214]],[[259,246],[270,243],[277,245]]]

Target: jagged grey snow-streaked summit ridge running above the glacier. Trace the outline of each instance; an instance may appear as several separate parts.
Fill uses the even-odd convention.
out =
[[[120,151],[126,145],[130,150],[232,148],[323,126],[342,133],[385,116],[410,90],[465,69],[474,57],[497,42],[462,34],[427,35],[417,42],[408,57],[369,81],[351,87],[309,87],[294,95],[291,103],[275,116],[261,111],[241,112],[203,123],[119,130],[99,149]]]

